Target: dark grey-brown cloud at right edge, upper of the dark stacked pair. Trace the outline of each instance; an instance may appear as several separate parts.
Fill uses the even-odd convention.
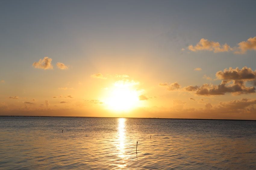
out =
[[[247,67],[243,67],[241,70],[238,67],[235,69],[229,67],[229,69],[218,71],[216,77],[223,80],[254,80],[256,79],[256,71]]]

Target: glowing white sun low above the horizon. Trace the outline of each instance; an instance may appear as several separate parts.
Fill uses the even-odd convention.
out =
[[[139,105],[139,91],[133,88],[135,82],[118,81],[108,89],[105,102],[108,109],[117,112],[128,112]]]

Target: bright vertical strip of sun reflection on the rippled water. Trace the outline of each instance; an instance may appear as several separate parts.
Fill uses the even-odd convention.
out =
[[[125,118],[118,119],[118,145],[117,149],[119,151],[118,156],[121,158],[121,161],[118,164],[118,167],[122,168],[126,166],[126,157],[125,157]]]

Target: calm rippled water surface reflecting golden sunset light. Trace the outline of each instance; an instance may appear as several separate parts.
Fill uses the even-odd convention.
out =
[[[255,158],[255,121],[0,117],[0,169],[256,169]]]

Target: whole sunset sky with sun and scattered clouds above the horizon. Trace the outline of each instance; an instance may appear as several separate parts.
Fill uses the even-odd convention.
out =
[[[0,115],[256,120],[256,1],[1,1]]]

